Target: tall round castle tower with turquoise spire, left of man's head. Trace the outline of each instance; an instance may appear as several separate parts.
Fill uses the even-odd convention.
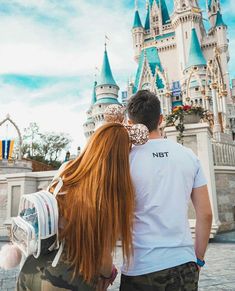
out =
[[[119,87],[112,74],[105,44],[102,70],[96,85],[96,102],[92,106],[92,118],[95,122],[95,129],[104,123],[105,108],[110,104],[120,104],[118,92]]]

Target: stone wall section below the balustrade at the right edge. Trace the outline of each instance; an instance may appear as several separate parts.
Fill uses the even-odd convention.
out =
[[[235,167],[215,167],[219,231],[235,229]]]

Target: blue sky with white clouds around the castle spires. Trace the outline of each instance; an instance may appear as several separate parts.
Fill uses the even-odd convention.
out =
[[[42,132],[68,133],[70,152],[85,145],[83,123],[101,69],[105,35],[114,78],[126,90],[133,78],[134,0],[0,0],[0,121],[7,114],[21,132],[36,122]],[[142,22],[145,0],[138,1]],[[206,9],[206,1],[199,1]],[[169,12],[173,1],[166,0]],[[235,1],[222,0],[235,78]],[[0,138],[15,138],[7,125]]]

